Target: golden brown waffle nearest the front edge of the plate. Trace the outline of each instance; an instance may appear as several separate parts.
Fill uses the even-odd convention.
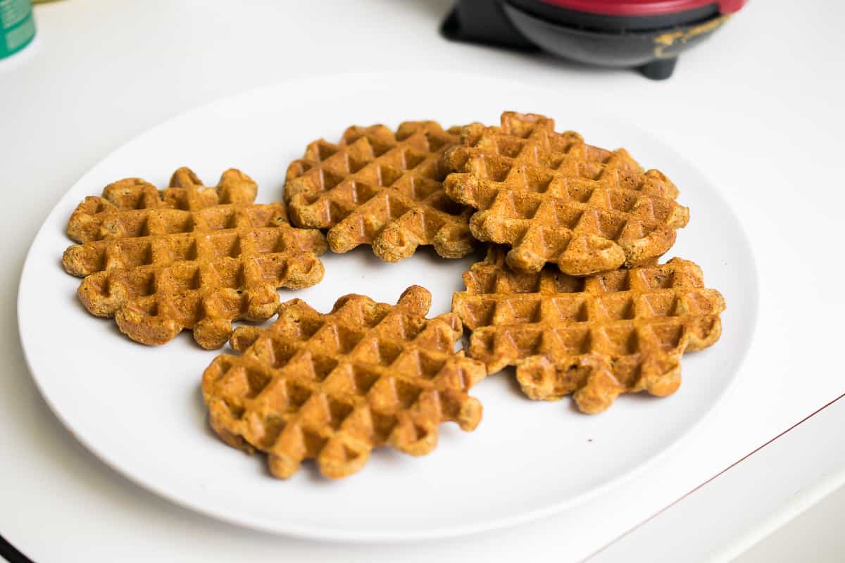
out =
[[[211,426],[233,447],[267,452],[282,479],[310,458],[346,477],[385,444],[423,455],[447,420],[473,430],[482,407],[466,391],[486,371],[455,354],[457,317],[424,317],[430,302],[418,285],[395,306],[346,295],[328,314],[295,299],[269,329],[237,328],[243,355],[218,356],[203,376]]]

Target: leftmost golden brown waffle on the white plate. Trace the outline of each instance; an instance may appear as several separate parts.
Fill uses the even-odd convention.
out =
[[[220,348],[232,321],[270,318],[276,288],[323,278],[326,243],[318,230],[293,228],[284,204],[253,203],[257,191],[241,171],[203,187],[180,168],[163,192],[128,178],[85,198],[68,222],[81,244],[63,257],[68,273],[85,277],[79,299],[144,344],[191,328],[203,348]]]

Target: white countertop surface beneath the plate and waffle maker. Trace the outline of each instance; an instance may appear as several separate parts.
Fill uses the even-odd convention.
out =
[[[7,241],[0,253],[8,264],[0,277],[0,351],[8,359],[0,377],[3,537],[40,563],[82,555],[578,560],[842,393],[842,369],[829,360],[845,312],[840,292],[829,289],[842,272],[832,242],[845,204],[842,5],[805,3],[796,13],[785,0],[751,2],[706,45],[684,54],[673,78],[650,82],[628,71],[444,41],[437,27],[449,4],[65,0],[35,8],[35,44],[0,62],[0,180],[15,192],[0,210]],[[433,543],[316,544],[255,533],[173,506],[113,473],[47,409],[19,347],[20,268],[48,211],[103,156],[194,106],[288,78],[400,69],[482,73],[559,89],[562,104],[623,114],[704,171],[744,219],[760,273],[755,341],[728,396],[644,474],[584,506]],[[354,108],[350,116],[354,121]],[[811,466],[816,456],[824,452],[810,448],[784,463]],[[808,475],[801,479],[818,478]],[[675,528],[708,534],[695,512]],[[677,544],[676,559],[710,556],[695,545]],[[628,555],[648,555],[647,544],[636,549]]]

